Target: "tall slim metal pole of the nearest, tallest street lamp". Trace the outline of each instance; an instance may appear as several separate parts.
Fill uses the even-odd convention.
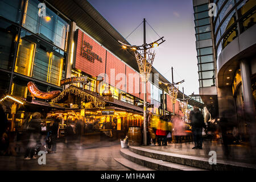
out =
[[[143,36],[144,36],[144,75],[143,75],[143,86],[144,86],[144,100],[143,100],[143,117],[144,117],[144,121],[143,121],[143,145],[147,146],[147,113],[146,113],[146,109],[147,109],[147,105],[146,105],[146,89],[147,89],[147,81],[146,81],[146,20],[143,19]]]

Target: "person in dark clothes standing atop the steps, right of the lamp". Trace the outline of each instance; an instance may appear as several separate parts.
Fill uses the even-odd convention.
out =
[[[204,115],[201,113],[198,107],[194,106],[193,110],[189,113],[189,120],[192,126],[192,133],[195,146],[192,149],[203,149],[203,127],[206,128],[204,123]]]

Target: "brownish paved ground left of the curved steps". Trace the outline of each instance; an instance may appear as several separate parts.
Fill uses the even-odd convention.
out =
[[[0,156],[0,170],[129,170],[114,160],[122,158],[120,148],[120,141],[99,142],[88,146],[73,144],[70,149],[64,143],[57,143],[57,153],[47,154],[45,165],[39,165],[38,159],[24,160],[23,154]]]

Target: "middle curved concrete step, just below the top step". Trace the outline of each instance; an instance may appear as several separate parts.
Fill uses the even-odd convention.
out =
[[[127,148],[121,148],[120,153],[124,158],[131,162],[159,171],[205,171],[205,169],[149,158],[147,156],[136,154]]]

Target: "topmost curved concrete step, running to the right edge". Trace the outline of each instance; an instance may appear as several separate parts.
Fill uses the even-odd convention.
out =
[[[256,171],[256,165],[254,164],[230,162],[217,159],[216,164],[211,165],[209,164],[209,158],[180,155],[171,152],[156,151],[135,146],[130,146],[129,150],[134,152],[134,154],[146,156],[148,158],[213,171]]]

